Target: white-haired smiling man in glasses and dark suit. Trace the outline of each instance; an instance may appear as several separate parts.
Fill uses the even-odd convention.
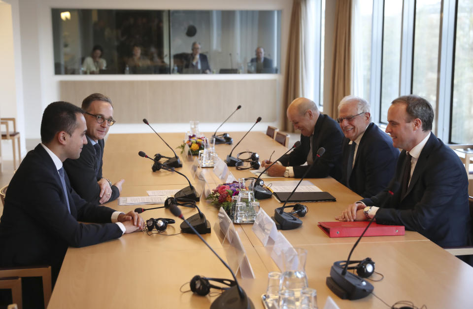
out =
[[[370,104],[362,98],[343,98],[337,122],[345,135],[340,182],[364,198],[372,197],[393,177],[399,150],[391,137],[371,122]]]

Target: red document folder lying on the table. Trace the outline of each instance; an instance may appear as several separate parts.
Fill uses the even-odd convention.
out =
[[[368,225],[368,221],[334,221],[319,222],[319,228],[329,237],[360,237]],[[364,236],[404,235],[403,225],[382,225],[373,222]]]

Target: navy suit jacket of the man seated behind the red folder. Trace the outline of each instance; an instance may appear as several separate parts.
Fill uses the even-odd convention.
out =
[[[391,182],[402,183],[405,156],[403,150]],[[387,196],[387,190],[383,190],[362,201],[380,206]],[[471,218],[465,167],[433,133],[420,153],[405,196],[398,190],[384,208],[377,210],[376,222],[404,225],[442,247],[469,243]]]

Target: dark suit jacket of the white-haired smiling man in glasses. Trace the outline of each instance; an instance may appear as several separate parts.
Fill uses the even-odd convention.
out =
[[[388,186],[394,176],[399,150],[394,148],[393,140],[374,123],[370,123],[358,145],[355,164],[347,180],[350,139],[344,137],[342,145],[341,183],[369,198]]]

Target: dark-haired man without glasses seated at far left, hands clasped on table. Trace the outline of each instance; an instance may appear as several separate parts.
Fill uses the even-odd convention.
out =
[[[71,189],[63,162],[79,158],[86,129],[82,109],[75,105],[55,102],[44,110],[42,142],[28,152],[8,185],[0,220],[0,267],[50,265],[55,282],[68,246],[88,246],[144,228],[136,212],[88,203]]]

